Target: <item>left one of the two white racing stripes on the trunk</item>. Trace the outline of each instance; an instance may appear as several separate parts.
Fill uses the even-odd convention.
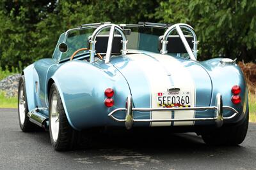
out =
[[[170,79],[168,78],[164,67],[157,62],[154,58],[148,55],[128,55],[129,59],[136,62],[144,74],[147,76],[150,85],[151,108],[157,108],[157,92],[165,92],[171,86]],[[152,119],[159,118],[172,118],[171,111],[151,111]],[[152,126],[170,126],[171,122],[152,122]]]

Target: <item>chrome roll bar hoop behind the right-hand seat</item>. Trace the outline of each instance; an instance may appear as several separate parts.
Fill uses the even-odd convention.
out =
[[[193,52],[190,48],[190,46],[188,45],[188,41],[186,40],[181,28],[184,28],[184,29],[187,29],[189,32],[191,32],[192,36],[193,36]],[[190,57],[191,60],[196,60],[196,53],[197,53],[197,44],[198,44],[198,41],[197,41],[197,38],[196,38],[196,34],[195,34],[195,31],[193,29],[193,27],[191,27],[190,25],[188,24],[174,24],[172,26],[170,26],[165,32],[164,32],[164,36],[163,36],[163,40],[161,41],[162,43],[162,50],[160,51],[162,54],[166,54],[168,53],[168,51],[166,50],[166,46],[167,46],[167,43],[168,43],[168,36],[174,31],[176,30],[180,36],[180,39],[183,43],[183,45],[185,46],[187,52],[188,52],[188,55]]]

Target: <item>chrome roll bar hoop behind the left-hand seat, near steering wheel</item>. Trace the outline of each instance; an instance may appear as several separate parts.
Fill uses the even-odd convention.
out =
[[[121,50],[122,55],[125,55],[127,53],[128,41],[125,37],[123,29],[116,24],[100,25],[99,27],[97,27],[97,29],[95,29],[95,31],[92,34],[92,38],[89,41],[90,42],[90,50],[89,50],[90,51],[90,63],[94,62],[94,57],[95,57],[95,52],[96,52],[95,51],[96,38],[99,35],[99,33],[103,29],[106,29],[106,28],[110,28],[110,31],[109,31],[108,48],[107,48],[107,52],[106,52],[105,64],[107,64],[110,61],[115,30],[118,31],[122,36],[122,41],[121,41],[121,43],[123,44],[122,50]]]

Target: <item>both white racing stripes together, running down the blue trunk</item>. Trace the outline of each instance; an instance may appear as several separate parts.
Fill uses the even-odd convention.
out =
[[[151,90],[151,108],[157,108],[157,93],[172,87],[191,92],[191,107],[195,106],[195,83],[179,60],[168,55],[128,55],[147,76]],[[172,80],[172,81],[171,81]],[[151,111],[152,119],[172,118],[172,111]],[[195,111],[175,111],[174,118],[195,118]],[[173,125],[193,125],[194,122],[174,122]],[[169,126],[171,122],[152,122],[151,126]]]

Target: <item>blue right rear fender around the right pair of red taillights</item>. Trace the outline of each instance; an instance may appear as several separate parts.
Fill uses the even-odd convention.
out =
[[[211,59],[204,62],[204,66],[212,79],[212,99],[211,106],[215,105],[216,94],[220,93],[223,99],[223,106],[231,106],[239,111],[240,117],[237,120],[227,120],[231,122],[238,122],[244,118],[246,114],[246,109],[248,106],[248,90],[246,87],[246,81],[244,80],[243,72],[237,64],[220,64],[219,58]],[[231,101],[232,92],[231,89],[234,85],[239,85],[241,87],[241,103],[233,104]],[[232,115],[232,111],[223,111],[225,117]]]

